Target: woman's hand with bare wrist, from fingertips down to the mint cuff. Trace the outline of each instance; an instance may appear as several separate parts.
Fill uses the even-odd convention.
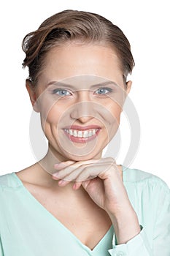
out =
[[[53,178],[61,187],[74,181],[73,189],[84,187],[91,199],[109,215],[117,244],[124,244],[140,233],[139,221],[123,185],[122,172],[114,159],[61,162]]]

